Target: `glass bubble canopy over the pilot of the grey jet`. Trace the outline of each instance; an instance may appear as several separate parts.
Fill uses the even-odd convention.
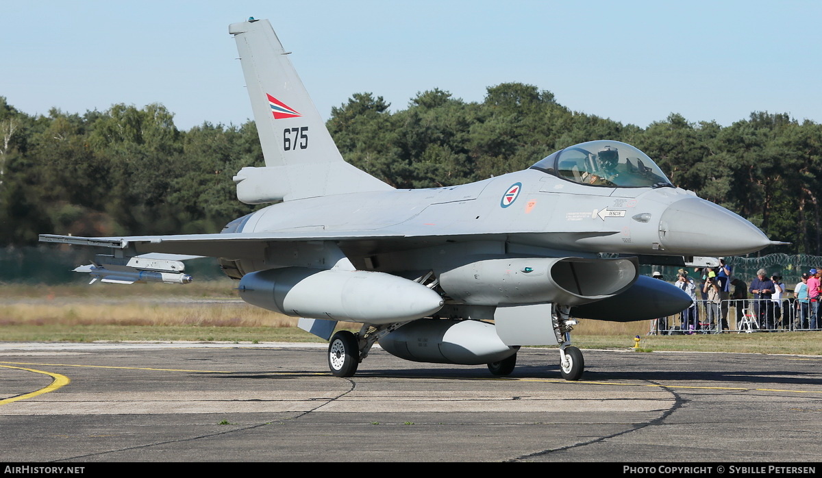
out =
[[[619,141],[598,140],[570,146],[531,169],[589,186],[673,187],[653,159]]]

